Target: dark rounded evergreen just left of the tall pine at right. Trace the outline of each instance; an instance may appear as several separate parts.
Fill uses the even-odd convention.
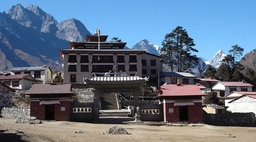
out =
[[[224,82],[230,82],[232,78],[231,69],[227,64],[222,64],[218,68],[216,75]]]

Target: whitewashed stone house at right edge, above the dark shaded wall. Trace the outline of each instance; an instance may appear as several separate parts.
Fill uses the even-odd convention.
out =
[[[241,92],[240,92],[241,93]],[[232,112],[253,112],[256,114],[256,92],[243,92],[240,97],[228,102],[229,108]],[[225,104],[226,104],[225,100]]]

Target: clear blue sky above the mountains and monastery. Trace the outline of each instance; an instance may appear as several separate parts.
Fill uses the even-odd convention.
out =
[[[129,48],[143,39],[162,47],[165,34],[183,26],[206,60],[236,44],[244,53],[256,49],[255,0],[2,0],[0,11],[18,3],[38,5],[58,22],[78,19],[92,34],[98,27]]]

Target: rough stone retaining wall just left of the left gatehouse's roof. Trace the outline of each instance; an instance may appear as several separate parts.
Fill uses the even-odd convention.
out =
[[[18,90],[13,95],[13,106],[30,107],[30,96],[25,95],[29,90]]]

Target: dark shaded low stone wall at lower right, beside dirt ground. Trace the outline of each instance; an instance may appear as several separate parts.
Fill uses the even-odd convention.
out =
[[[215,126],[256,126],[256,118],[253,112],[249,113],[224,113],[203,114],[205,124]]]

